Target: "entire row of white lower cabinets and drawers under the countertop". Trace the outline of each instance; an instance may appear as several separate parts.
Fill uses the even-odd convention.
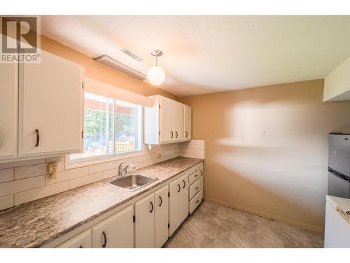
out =
[[[92,228],[62,240],[57,248],[162,248],[200,204],[202,188],[203,163],[199,163]]]

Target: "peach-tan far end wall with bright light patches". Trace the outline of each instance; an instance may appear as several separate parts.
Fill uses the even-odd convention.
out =
[[[179,100],[205,141],[207,200],[323,231],[328,133],[350,123],[350,102],[323,103],[321,79]]]

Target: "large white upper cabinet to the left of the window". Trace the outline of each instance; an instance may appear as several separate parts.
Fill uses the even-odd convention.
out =
[[[41,50],[0,69],[0,162],[82,151],[84,68]]]

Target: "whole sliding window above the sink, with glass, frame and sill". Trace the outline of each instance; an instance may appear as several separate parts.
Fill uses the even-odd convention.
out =
[[[69,165],[142,151],[142,107],[85,93],[84,153]]]

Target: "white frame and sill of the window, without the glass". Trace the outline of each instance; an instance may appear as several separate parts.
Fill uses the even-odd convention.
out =
[[[90,94],[94,94],[94,93],[90,93]],[[97,95],[97,94],[94,94]],[[100,95],[98,95],[100,96]],[[104,96],[102,96],[104,97]],[[114,124],[115,124],[115,118],[114,118],[114,114],[115,114],[115,107],[116,107],[116,101],[120,101],[120,102],[124,102],[123,100],[117,100],[114,98],[110,98],[109,99],[113,100],[113,118],[112,118],[112,136],[113,136],[113,142],[115,142],[115,129],[114,129]],[[84,98],[85,100],[85,98]],[[134,104],[132,102],[127,102],[127,103],[131,103]],[[105,155],[100,155],[100,156],[90,156],[90,157],[83,157],[83,158],[79,158],[76,159],[76,161],[72,161],[70,159],[71,154],[66,154],[65,156],[65,169],[69,170],[69,169],[74,169],[74,168],[80,168],[80,167],[85,167],[85,166],[92,166],[94,164],[99,164],[99,163],[108,163],[110,161],[118,161],[118,160],[123,160],[123,159],[127,159],[127,158],[132,158],[132,157],[137,157],[137,156],[141,156],[145,154],[145,147],[144,147],[144,106],[141,104],[134,104],[137,105],[139,107],[141,107],[140,111],[137,111],[138,114],[140,114],[141,117],[141,123],[139,124],[139,121],[137,122],[136,126],[140,126],[141,130],[138,130],[137,133],[139,133],[138,136],[135,136],[135,144],[137,140],[141,140],[140,142],[140,150],[137,151],[125,151],[125,152],[121,152],[121,153],[116,153],[115,149],[113,149],[113,154],[105,154]],[[85,107],[84,107],[85,110]],[[136,128],[135,128],[135,134],[136,134]]]

